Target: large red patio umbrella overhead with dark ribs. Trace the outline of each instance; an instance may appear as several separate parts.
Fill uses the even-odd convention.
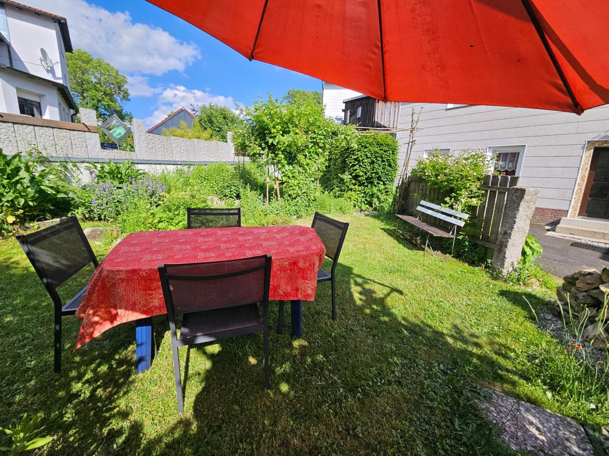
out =
[[[380,100],[609,103],[608,0],[149,0],[249,58]]]

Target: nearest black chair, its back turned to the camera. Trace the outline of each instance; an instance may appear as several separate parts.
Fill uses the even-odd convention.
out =
[[[178,411],[184,410],[178,347],[264,331],[264,385],[269,382],[271,255],[211,263],[159,264],[171,330]],[[262,320],[258,304],[262,304]],[[180,336],[175,316],[182,315]],[[188,368],[188,367],[187,367]]]

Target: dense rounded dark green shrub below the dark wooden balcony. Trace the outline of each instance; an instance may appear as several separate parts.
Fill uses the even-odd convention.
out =
[[[343,138],[328,157],[323,184],[351,199],[359,209],[379,209],[391,201],[398,172],[398,142],[386,133]]]

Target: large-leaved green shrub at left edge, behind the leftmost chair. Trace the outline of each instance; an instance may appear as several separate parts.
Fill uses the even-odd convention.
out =
[[[15,223],[70,212],[70,171],[70,165],[51,162],[35,148],[10,157],[0,149],[0,232],[12,231]]]

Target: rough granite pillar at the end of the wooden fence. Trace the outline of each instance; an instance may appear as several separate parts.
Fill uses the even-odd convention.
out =
[[[502,276],[513,271],[520,260],[538,193],[536,188],[525,187],[512,187],[507,192],[497,248],[491,263],[493,270]]]

